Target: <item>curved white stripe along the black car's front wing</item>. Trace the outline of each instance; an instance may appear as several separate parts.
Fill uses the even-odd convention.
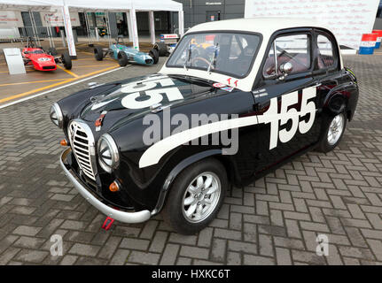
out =
[[[139,159],[139,168],[157,164],[161,157],[183,143],[191,142],[192,140],[198,139],[207,134],[227,131],[241,126],[251,126],[257,123],[257,116],[249,116],[197,126],[181,133],[170,135],[160,142],[154,143],[149,149],[144,151],[141,159]]]

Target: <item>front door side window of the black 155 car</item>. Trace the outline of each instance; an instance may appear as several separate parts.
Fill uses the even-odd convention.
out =
[[[287,62],[292,64],[290,74],[307,72],[310,69],[310,36],[308,34],[278,36],[272,42],[262,70],[264,78],[271,79],[281,74],[280,66]]]

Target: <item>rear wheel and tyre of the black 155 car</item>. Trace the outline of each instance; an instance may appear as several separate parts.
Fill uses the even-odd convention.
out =
[[[325,117],[317,151],[326,153],[334,149],[341,141],[346,126],[347,117],[344,112]]]

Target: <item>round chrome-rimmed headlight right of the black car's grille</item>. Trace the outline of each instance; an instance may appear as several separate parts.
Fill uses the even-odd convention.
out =
[[[120,164],[120,154],[110,134],[103,134],[98,141],[98,161],[105,172],[112,172]]]

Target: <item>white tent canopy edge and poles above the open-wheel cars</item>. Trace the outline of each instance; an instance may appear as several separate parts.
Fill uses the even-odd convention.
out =
[[[136,11],[149,11],[152,43],[155,41],[153,11],[177,11],[179,34],[183,35],[183,5],[171,0],[0,0],[0,10],[7,11],[62,11],[69,54],[76,57],[69,10],[125,11],[128,15],[130,41],[139,49]]]

